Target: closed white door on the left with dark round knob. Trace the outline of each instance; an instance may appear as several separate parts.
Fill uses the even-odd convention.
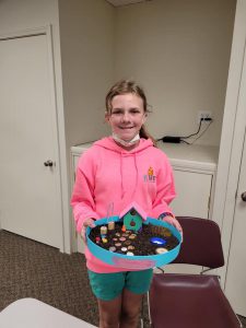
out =
[[[62,218],[52,87],[46,34],[0,38],[1,229],[60,248]],[[52,166],[45,166],[47,161]]]

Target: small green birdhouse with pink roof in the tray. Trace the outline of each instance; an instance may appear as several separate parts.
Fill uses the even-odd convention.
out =
[[[136,202],[130,203],[119,215],[126,230],[139,231],[142,222],[147,220],[147,213]]]

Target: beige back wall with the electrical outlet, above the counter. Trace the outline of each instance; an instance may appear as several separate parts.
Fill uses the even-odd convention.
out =
[[[154,137],[197,130],[199,110],[214,122],[200,143],[219,145],[236,0],[153,0],[116,10],[115,80],[145,89]]]

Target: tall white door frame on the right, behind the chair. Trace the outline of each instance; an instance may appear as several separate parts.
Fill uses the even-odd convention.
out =
[[[225,266],[219,270],[225,288],[237,185],[246,128],[246,0],[237,0],[225,96],[212,219],[222,231]]]

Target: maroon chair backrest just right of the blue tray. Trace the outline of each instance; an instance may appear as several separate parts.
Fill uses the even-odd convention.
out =
[[[174,263],[189,263],[211,269],[223,267],[224,256],[219,225],[191,216],[177,216],[184,234],[180,251]]]

